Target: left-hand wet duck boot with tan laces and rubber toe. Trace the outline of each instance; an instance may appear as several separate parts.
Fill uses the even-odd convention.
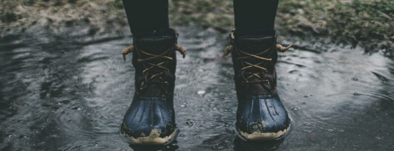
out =
[[[122,51],[132,52],[135,68],[135,92],[123,123],[122,132],[134,145],[166,145],[175,139],[173,92],[177,33],[169,36],[133,37],[133,45]]]

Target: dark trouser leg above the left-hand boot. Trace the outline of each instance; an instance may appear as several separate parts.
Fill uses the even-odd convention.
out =
[[[168,0],[123,0],[123,4],[133,36],[169,33]]]

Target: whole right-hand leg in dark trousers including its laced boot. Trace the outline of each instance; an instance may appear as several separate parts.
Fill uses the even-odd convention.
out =
[[[230,35],[238,108],[236,132],[245,140],[276,140],[290,119],[276,91],[274,20],[278,0],[233,0],[235,31]]]

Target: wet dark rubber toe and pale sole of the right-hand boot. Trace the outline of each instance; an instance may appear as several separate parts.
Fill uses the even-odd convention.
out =
[[[235,127],[246,140],[277,140],[290,130],[290,118],[277,93],[239,98]]]

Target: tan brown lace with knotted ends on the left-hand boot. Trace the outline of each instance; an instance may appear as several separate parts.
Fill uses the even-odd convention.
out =
[[[123,54],[123,60],[126,61],[126,55],[129,54],[130,52],[135,51],[135,50],[137,50],[136,52],[138,54],[137,62],[142,63],[143,68],[144,68],[144,70],[142,71],[142,74],[145,76],[145,82],[146,83],[162,83],[162,84],[168,83],[168,81],[163,79],[163,77],[161,75],[164,75],[166,72],[170,72],[169,69],[166,68],[164,65],[167,62],[167,60],[173,59],[172,57],[168,56],[172,53],[172,50],[179,51],[183,55],[183,58],[185,58],[185,55],[187,53],[186,50],[179,45],[174,45],[171,48],[165,50],[161,54],[151,54],[146,51],[137,49],[136,46],[130,46],[121,52]],[[148,57],[142,58],[141,53],[148,56]],[[155,59],[161,59],[161,58],[163,58],[164,61],[156,63],[156,64],[149,62],[149,61],[152,61]],[[152,71],[153,69],[160,69],[161,72],[151,74],[150,71]],[[154,78],[159,78],[160,82],[152,81]],[[144,84],[145,84],[144,82],[141,83],[141,87],[140,87],[141,90],[142,90],[142,86],[144,86]]]

